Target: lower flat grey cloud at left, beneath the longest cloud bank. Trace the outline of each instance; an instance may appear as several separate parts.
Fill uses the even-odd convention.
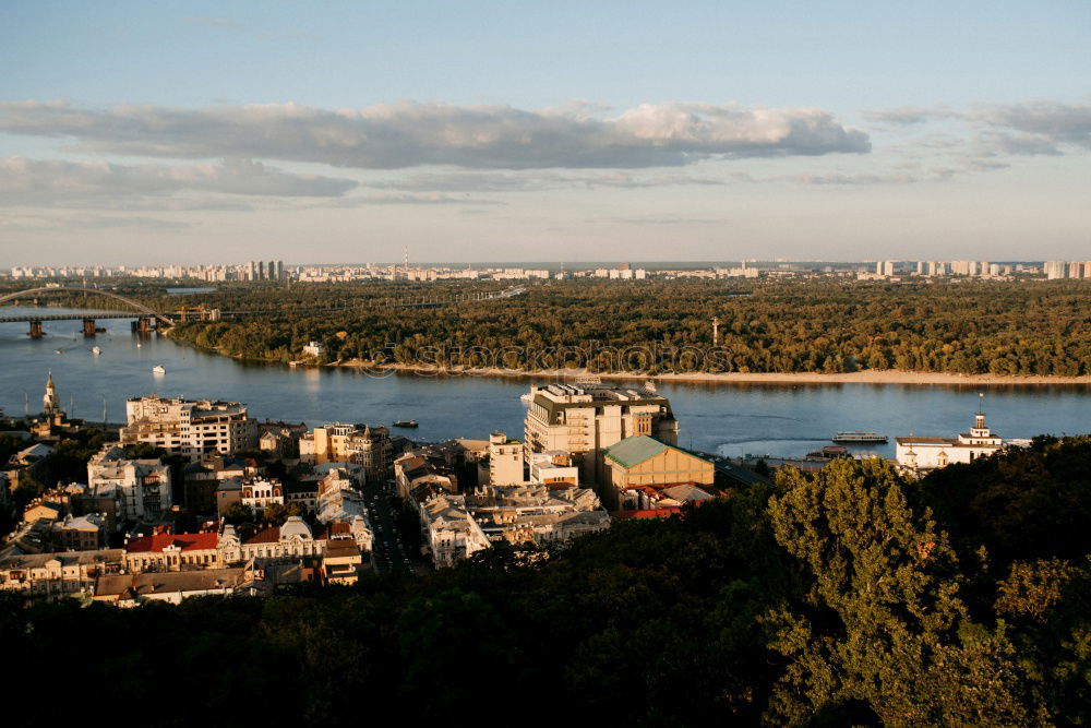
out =
[[[91,204],[136,208],[143,203],[143,208],[156,210],[224,210],[239,208],[240,203],[232,199],[176,201],[169,196],[189,191],[336,198],[356,186],[352,180],[287,174],[251,160],[228,160],[218,165],[128,166],[106,162],[0,159],[0,204],[3,205]]]

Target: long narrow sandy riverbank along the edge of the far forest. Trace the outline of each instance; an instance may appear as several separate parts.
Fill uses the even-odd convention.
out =
[[[950,374],[945,372],[912,372],[898,370],[872,370],[826,374],[822,372],[690,372],[676,374],[645,374],[640,372],[611,372],[594,374],[586,369],[548,369],[524,371],[520,369],[501,369],[497,367],[441,369],[420,365],[373,365],[359,359],[334,362],[331,367],[350,369],[371,369],[376,371],[393,371],[420,374],[421,377],[501,377],[511,379],[556,379],[575,380],[580,377],[597,375],[603,380],[616,381],[656,381],[656,382],[699,382],[710,384],[911,384],[911,385],[981,385],[981,386],[1042,386],[1056,384],[1077,384],[1091,386],[1091,375],[1088,377],[1042,377],[1029,374],[1026,377],[1004,377],[998,374]]]

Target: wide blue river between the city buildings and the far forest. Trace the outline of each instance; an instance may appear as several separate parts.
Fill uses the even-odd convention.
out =
[[[17,309],[4,307],[4,314]],[[61,312],[49,309],[49,313]],[[123,421],[128,397],[151,394],[237,399],[253,417],[304,421],[385,422],[416,419],[422,440],[484,438],[493,430],[523,437],[519,395],[533,379],[429,378],[243,363],[156,336],[137,339],[127,320],[100,321],[107,333],[85,339],[79,321],[45,324],[32,341],[25,323],[0,324],[0,408],[41,409],[51,370],[69,415]],[[137,341],[141,345],[137,346]],[[95,356],[91,347],[103,353]],[[58,354],[57,351],[60,351]],[[154,374],[163,365],[167,373]],[[892,456],[892,438],[950,437],[966,431],[985,392],[988,425],[1005,438],[1091,431],[1086,386],[950,386],[898,384],[660,384],[681,425],[680,444],[738,456],[800,456],[829,443],[840,430],[873,430],[891,443],[866,445]],[[398,432],[399,430],[394,430]]]

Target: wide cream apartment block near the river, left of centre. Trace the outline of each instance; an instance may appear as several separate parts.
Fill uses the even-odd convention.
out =
[[[135,397],[125,403],[125,417],[123,445],[146,443],[190,460],[257,447],[257,422],[238,402]]]

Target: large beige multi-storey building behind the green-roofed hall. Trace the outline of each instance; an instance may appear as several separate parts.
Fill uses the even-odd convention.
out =
[[[585,481],[602,479],[602,451],[634,435],[678,444],[679,425],[667,397],[647,389],[550,384],[530,387],[524,451],[572,453]]]

